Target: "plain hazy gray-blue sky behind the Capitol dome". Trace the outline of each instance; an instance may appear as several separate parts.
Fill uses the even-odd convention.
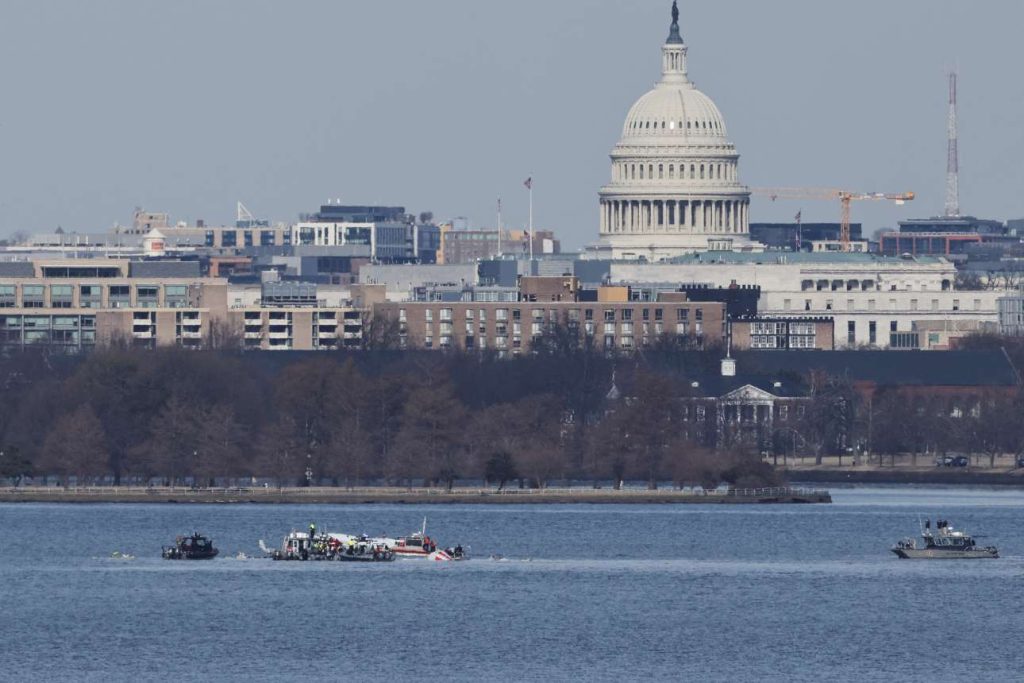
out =
[[[293,220],[327,198],[597,236],[597,190],[657,80],[671,2],[4,0],[0,234],[173,219]],[[697,87],[752,186],[918,193],[941,213],[957,65],[961,206],[1024,216],[1018,0],[680,3]],[[754,221],[839,207],[755,199]]]

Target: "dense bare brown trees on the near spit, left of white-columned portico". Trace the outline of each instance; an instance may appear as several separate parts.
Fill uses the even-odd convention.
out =
[[[674,380],[609,401],[600,353],[98,349],[0,357],[0,477],[55,483],[758,485],[753,453],[684,437]]]

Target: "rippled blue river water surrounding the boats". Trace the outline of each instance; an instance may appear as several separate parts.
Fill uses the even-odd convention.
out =
[[[833,494],[814,506],[0,505],[0,679],[1024,680],[1024,493]],[[309,522],[397,535],[425,515],[473,559],[236,557]],[[899,560],[888,548],[919,515],[1002,557]],[[221,557],[160,559],[194,529]]]

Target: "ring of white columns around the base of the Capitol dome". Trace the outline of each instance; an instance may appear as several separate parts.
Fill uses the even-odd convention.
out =
[[[746,200],[603,200],[602,234],[748,231]]]

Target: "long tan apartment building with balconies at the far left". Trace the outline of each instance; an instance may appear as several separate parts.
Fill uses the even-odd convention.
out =
[[[357,347],[383,300],[383,286],[233,285],[199,276],[195,262],[0,262],[0,347]]]

